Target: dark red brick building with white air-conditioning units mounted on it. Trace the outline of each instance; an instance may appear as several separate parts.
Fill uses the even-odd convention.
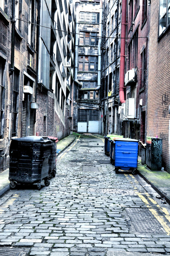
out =
[[[122,129],[127,137],[146,142],[150,2],[130,0],[125,41],[125,101],[119,108]],[[121,40],[124,40],[123,38]]]

